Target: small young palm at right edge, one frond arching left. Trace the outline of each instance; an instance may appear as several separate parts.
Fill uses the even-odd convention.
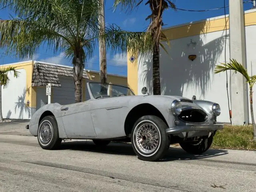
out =
[[[249,76],[247,70],[244,68],[244,66],[242,66],[242,64],[240,64],[239,62],[237,62],[235,59],[231,59],[230,62],[228,63],[222,63],[220,65],[217,65],[215,67],[214,73],[220,73],[220,72],[224,72],[226,70],[234,70],[236,72],[239,72],[240,74],[242,74],[244,76],[244,78],[246,79],[246,82],[249,84],[250,87],[250,108],[251,108],[251,116],[252,116],[252,127],[253,127],[253,140],[256,141],[256,124],[254,121],[254,114],[253,114],[253,108],[252,108],[252,87],[254,86],[255,82],[256,82],[256,75],[253,76]]]

